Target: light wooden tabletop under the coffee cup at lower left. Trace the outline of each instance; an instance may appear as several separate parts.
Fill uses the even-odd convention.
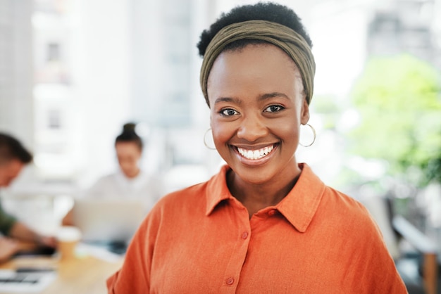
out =
[[[58,257],[16,257],[0,264],[0,269],[55,267],[57,271],[55,281],[41,294],[104,294],[107,293],[106,279],[122,264],[123,257],[115,262],[100,260],[91,255],[70,260],[58,260]]]

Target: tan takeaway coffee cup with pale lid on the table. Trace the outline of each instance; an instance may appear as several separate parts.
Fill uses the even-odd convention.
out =
[[[81,231],[76,226],[61,226],[56,234],[57,250],[61,260],[75,258],[75,248],[81,239]]]

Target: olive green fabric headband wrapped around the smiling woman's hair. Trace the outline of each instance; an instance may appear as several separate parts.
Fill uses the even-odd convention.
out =
[[[285,25],[272,23],[266,20],[248,20],[243,23],[233,23],[223,27],[211,40],[206,48],[201,66],[201,88],[206,103],[209,104],[207,81],[214,60],[228,44],[240,39],[258,39],[267,41],[285,51],[302,75],[306,101],[309,103],[313,94],[313,79],[316,72],[316,63],[311,47],[306,40],[294,30]]]

